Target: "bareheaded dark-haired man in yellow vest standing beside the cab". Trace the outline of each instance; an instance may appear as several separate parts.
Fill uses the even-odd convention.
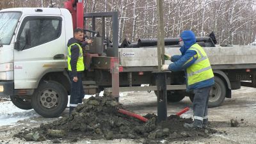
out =
[[[69,115],[71,111],[76,108],[77,104],[82,104],[84,98],[84,89],[82,83],[82,72],[84,71],[83,62],[83,49],[87,44],[91,44],[93,41],[83,40],[83,29],[77,28],[74,31],[74,37],[68,40],[68,74],[71,80],[71,92],[70,92],[70,107]]]

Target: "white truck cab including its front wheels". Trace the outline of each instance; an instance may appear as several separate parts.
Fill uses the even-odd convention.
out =
[[[10,96],[18,108],[34,108],[45,117],[62,113],[70,89],[65,68],[71,37],[72,17],[67,9],[1,10],[1,97]]]

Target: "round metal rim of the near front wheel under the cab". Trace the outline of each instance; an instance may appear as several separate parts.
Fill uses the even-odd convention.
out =
[[[59,94],[55,90],[43,90],[39,94],[40,104],[43,108],[52,109],[59,103]]]

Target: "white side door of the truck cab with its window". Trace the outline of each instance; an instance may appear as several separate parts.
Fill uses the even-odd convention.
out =
[[[67,67],[64,18],[58,16],[27,16],[22,19],[14,51],[15,89],[36,88],[42,74]],[[31,31],[31,45],[26,44],[25,31]]]

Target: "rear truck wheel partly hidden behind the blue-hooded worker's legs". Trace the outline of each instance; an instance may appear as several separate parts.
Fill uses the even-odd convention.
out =
[[[214,108],[221,105],[226,97],[226,86],[220,77],[214,76],[214,84],[211,87],[208,108]],[[189,99],[193,102],[195,95],[190,95]]]

